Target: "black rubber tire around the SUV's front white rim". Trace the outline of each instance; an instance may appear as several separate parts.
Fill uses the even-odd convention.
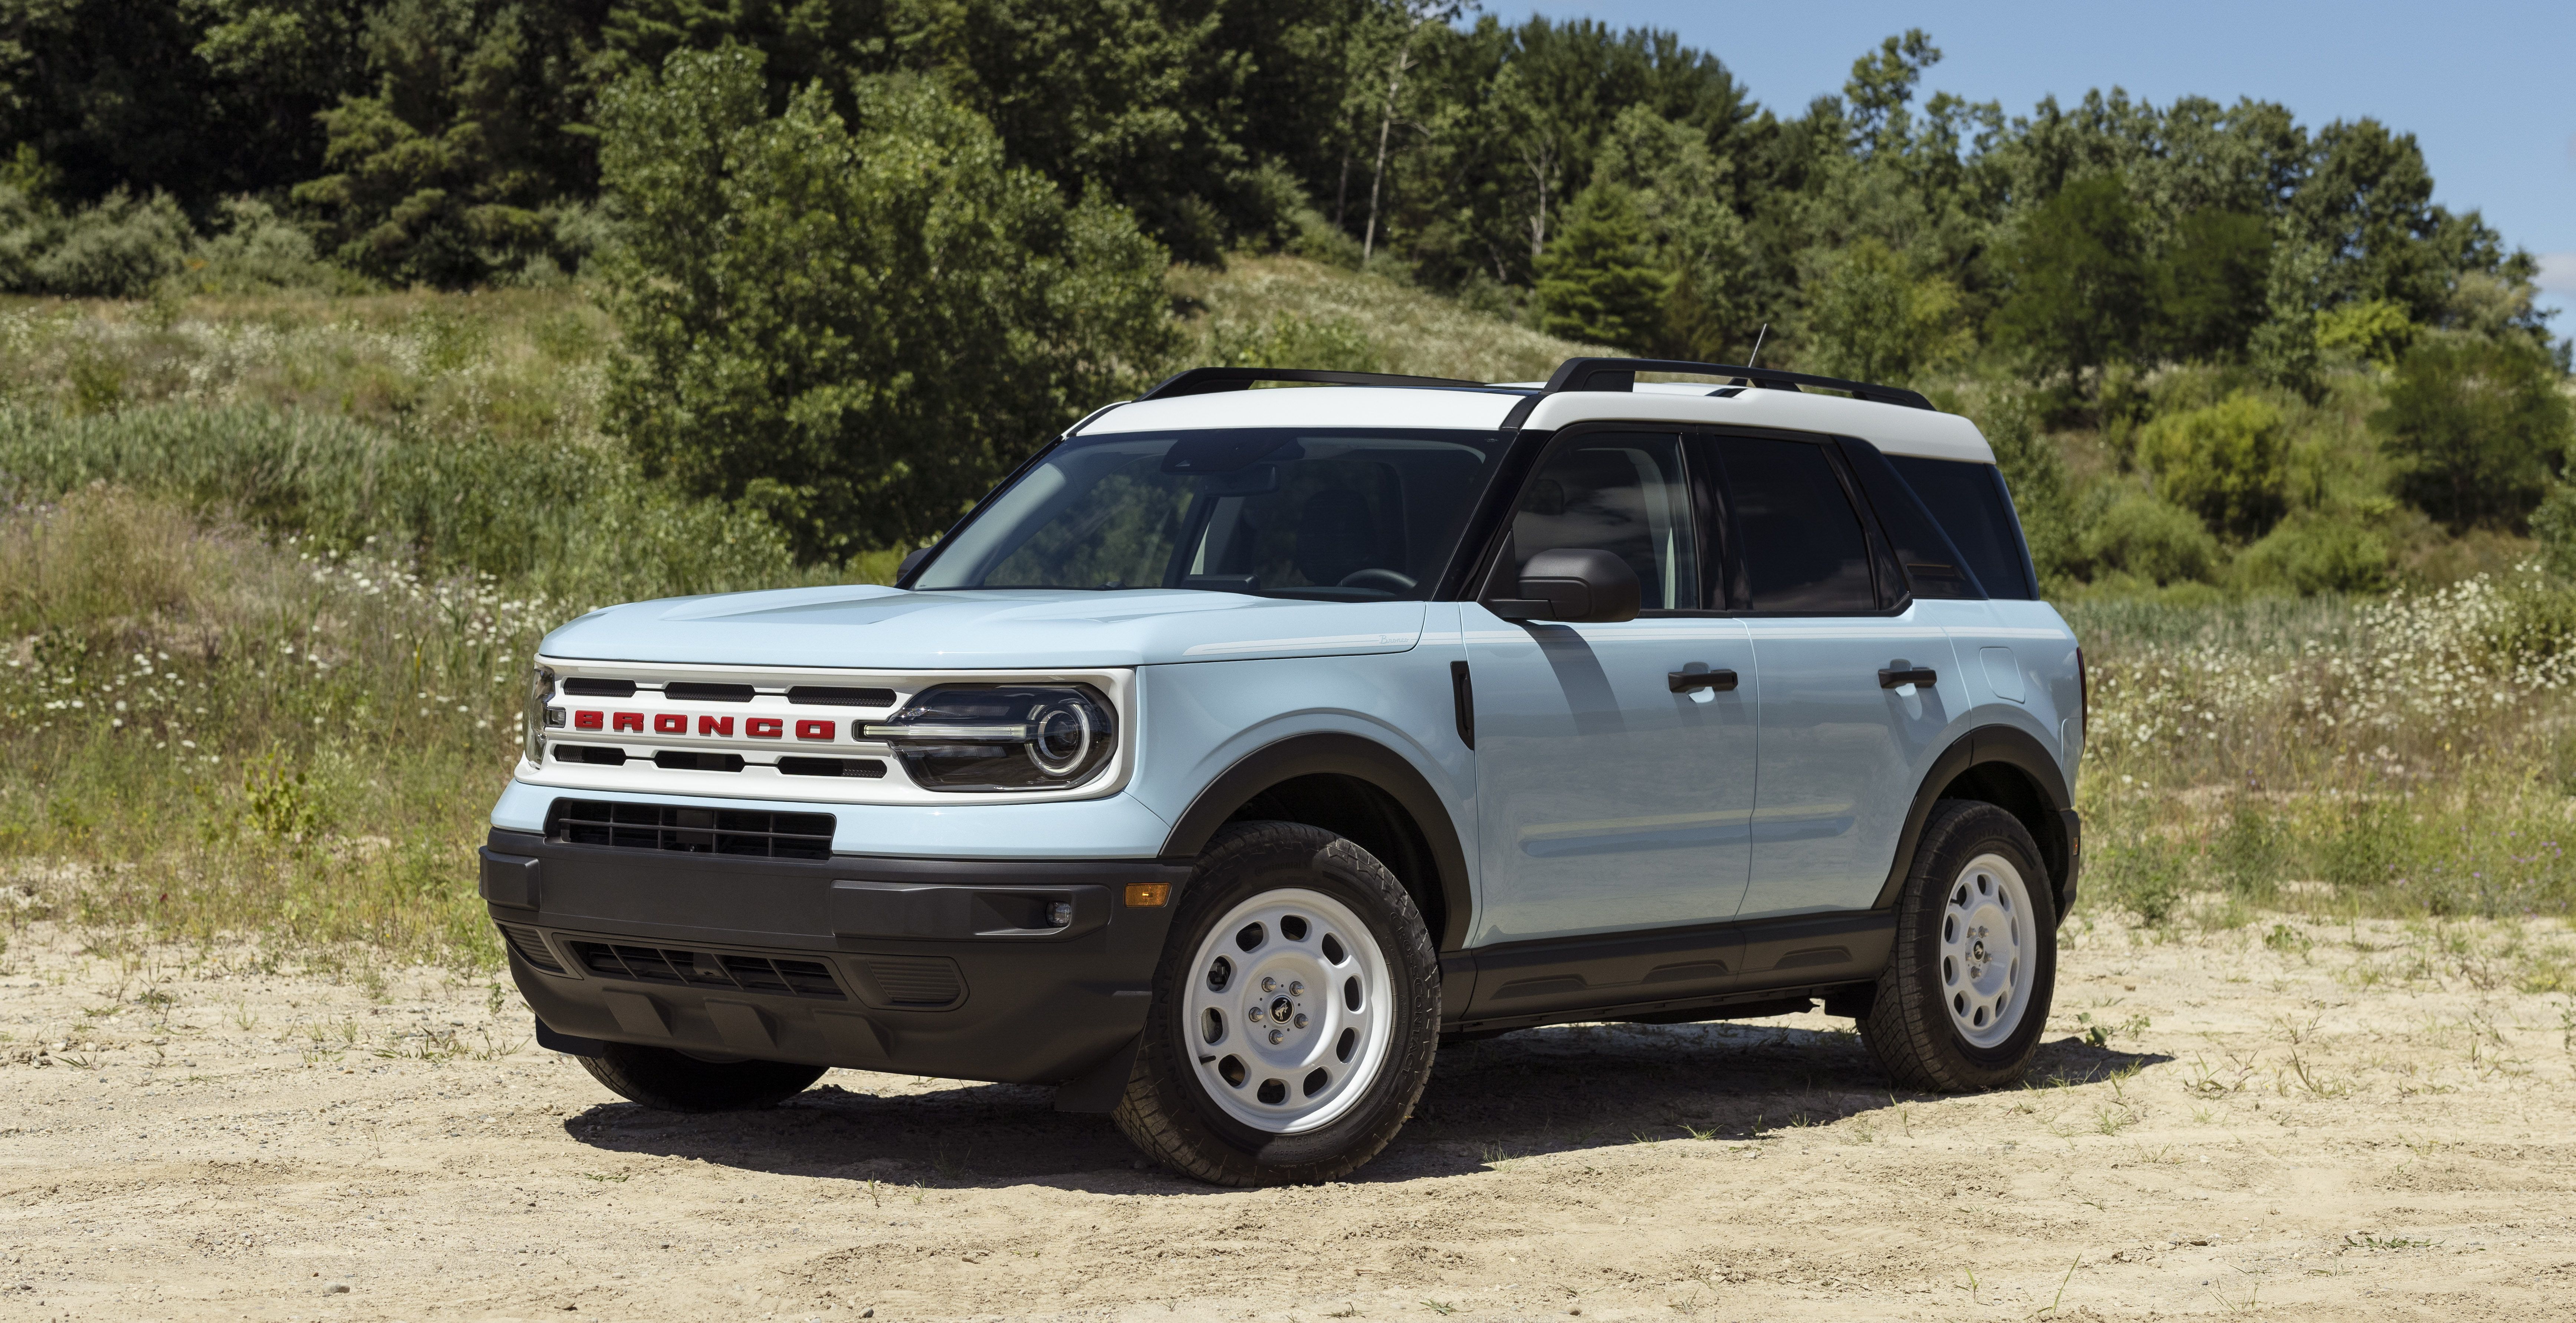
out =
[[[1376,1076],[1352,1084],[1355,1096],[1342,1102],[1332,1120],[1293,1133],[1260,1130],[1229,1115],[1200,1073],[1193,1024],[1182,1024],[1193,1014],[1190,991],[1200,978],[1195,970],[1200,945],[1239,906],[1280,891],[1321,893],[1358,916],[1383,968],[1388,1022]],[[1345,955],[1360,960],[1365,952],[1345,950]],[[1247,991],[1249,978],[1247,968]],[[1334,994],[1319,991],[1319,996]],[[1244,1032],[1267,1032],[1267,1024]],[[1208,842],[1182,891],[1170,945],[1154,970],[1154,1006],[1146,1012],[1136,1071],[1113,1120],[1146,1156],[1200,1181],[1229,1187],[1332,1181],[1376,1158],[1396,1138],[1430,1081],[1437,1048],[1440,955],[1404,883],[1370,852],[1319,826],[1231,824]]]

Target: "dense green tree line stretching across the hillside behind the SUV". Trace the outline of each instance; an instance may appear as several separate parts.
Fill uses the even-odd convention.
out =
[[[2066,574],[2269,546],[2367,584],[2388,497],[2452,530],[2550,499],[2576,541],[2535,263],[2432,201],[2409,134],[2117,90],[2007,113],[1927,95],[1922,31],[1765,108],[1672,33],[1466,8],[0,0],[0,288],[590,268],[647,466],[809,556],[940,528],[1167,368],[1167,260],[1275,247],[1636,353],[2009,381],[1984,422]],[[2354,373],[2367,481],[2313,422]],[[2123,481],[2035,440],[2069,422]]]

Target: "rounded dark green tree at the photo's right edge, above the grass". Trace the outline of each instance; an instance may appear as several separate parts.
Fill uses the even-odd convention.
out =
[[[2566,463],[2558,365],[2524,337],[2427,335],[2370,417],[2398,492],[2450,528],[2519,528]]]

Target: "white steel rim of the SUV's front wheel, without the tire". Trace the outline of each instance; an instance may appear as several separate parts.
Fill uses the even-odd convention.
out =
[[[1386,1066],[1388,958],[1368,924],[1319,891],[1283,888],[1226,911],[1185,970],[1177,1040],[1198,1086],[1270,1135],[1332,1125]]]

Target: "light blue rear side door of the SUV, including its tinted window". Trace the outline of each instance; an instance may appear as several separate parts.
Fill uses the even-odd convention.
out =
[[[1958,710],[1945,631],[1917,618],[1834,443],[1718,435],[1736,605],[1762,682],[1744,919],[1878,901],[1917,767]],[[1929,669],[1932,682],[1896,682]]]

